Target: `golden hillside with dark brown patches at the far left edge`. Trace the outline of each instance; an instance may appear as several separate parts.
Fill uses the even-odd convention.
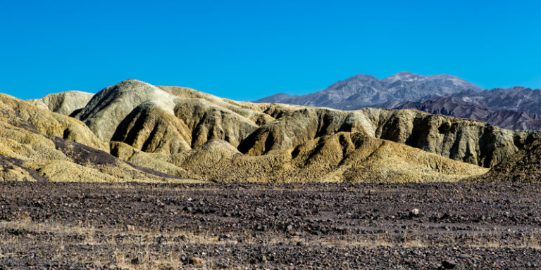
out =
[[[108,150],[108,143],[82,122],[0,94],[0,179],[180,181],[119,160]]]

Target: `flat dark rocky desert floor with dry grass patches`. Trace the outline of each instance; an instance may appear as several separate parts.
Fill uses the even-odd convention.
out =
[[[0,269],[539,269],[541,186],[0,183]]]

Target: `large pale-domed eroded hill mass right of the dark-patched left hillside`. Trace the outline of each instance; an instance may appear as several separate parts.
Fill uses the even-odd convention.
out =
[[[87,146],[207,181],[458,181],[537,138],[417,110],[239,102],[135,79],[72,116],[92,134]]]

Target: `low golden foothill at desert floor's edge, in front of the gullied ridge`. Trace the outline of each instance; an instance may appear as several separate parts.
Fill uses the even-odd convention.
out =
[[[126,144],[112,147],[118,152],[134,153],[120,157],[130,162],[139,159],[138,162],[149,164],[161,160],[201,179],[222,182],[458,181],[487,171],[399,143],[349,132],[258,156],[242,155],[222,140],[211,140],[183,155],[170,156],[137,153]],[[170,172],[172,168],[163,169]]]

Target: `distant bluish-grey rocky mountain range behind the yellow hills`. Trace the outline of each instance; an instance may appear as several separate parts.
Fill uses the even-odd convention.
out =
[[[422,110],[427,113],[481,120],[505,129],[541,129],[541,90],[514,87],[480,89],[450,75],[411,72],[378,79],[355,75],[313,94],[275,94],[256,102],[323,106],[339,110],[366,107]]]

